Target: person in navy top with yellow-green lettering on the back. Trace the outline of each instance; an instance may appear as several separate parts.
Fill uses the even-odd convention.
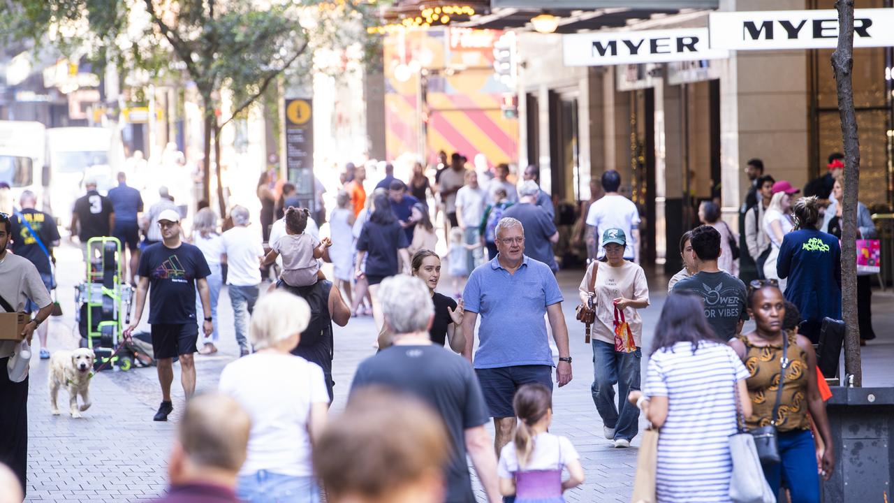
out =
[[[789,278],[785,298],[801,311],[799,333],[816,344],[822,319],[841,319],[841,247],[835,236],[817,230],[815,196],[797,200],[792,214],[795,230],[782,240],[776,272]]]

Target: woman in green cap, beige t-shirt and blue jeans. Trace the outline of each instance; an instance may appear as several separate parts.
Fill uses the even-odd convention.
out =
[[[649,305],[645,272],[624,259],[627,236],[619,228],[603,233],[606,261],[596,260],[580,282],[586,303],[590,278],[596,275],[593,324],[594,382],[590,388],[596,411],[603,419],[603,434],[614,447],[628,448],[639,431],[639,410],[627,401],[628,391],[639,389],[643,320],[637,310]],[[616,341],[616,333],[619,340]],[[631,340],[632,339],[632,340]],[[619,344],[620,343],[620,344]],[[618,385],[615,405],[614,385]]]

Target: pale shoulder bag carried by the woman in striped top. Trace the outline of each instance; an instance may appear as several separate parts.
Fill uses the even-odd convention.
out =
[[[732,363],[732,360],[730,360]],[[733,365],[733,400],[736,402],[736,432],[729,437],[732,473],[730,473],[730,499],[733,503],[776,503],[770,484],[763,476],[763,467],[757,456],[755,438],[745,426],[745,416],[738,400],[736,367]]]

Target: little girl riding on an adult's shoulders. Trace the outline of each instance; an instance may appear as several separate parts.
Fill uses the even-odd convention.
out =
[[[270,243],[270,252],[264,258],[264,265],[276,261],[283,255],[283,273],[280,280],[288,286],[311,286],[320,279],[325,279],[317,261],[323,251],[333,245],[328,237],[320,243],[314,236],[304,234],[308,226],[310,211],[307,208],[289,207],[285,211],[285,232],[276,243]]]

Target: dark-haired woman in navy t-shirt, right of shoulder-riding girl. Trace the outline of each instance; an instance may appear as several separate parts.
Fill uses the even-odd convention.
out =
[[[379,283],[385,277],[399,272],[409,274],[409,253],[407,234],[403,232],[401,223],[394,216],[391,201],[387,193],[375,193],[373,196],[373,213],[360,229],[357,240],[357,260],[355,273],[358,279],[366,278],[369,282],[369,294],[373,301],[373,318],[375,328],[382,329],[382,310],[376,294]],[[364,258],[367,259],[366,270],[360,269]]]

